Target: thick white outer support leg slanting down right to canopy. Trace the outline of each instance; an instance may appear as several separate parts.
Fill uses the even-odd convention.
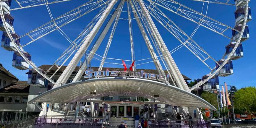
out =
[[[149,24],[149,27],[152,31],[152,34],[154,35],[157,45],[159,45],[159,48],[162,52],[162,55],[164,57],[165,62],[167,63],[167,66],[170,68],[170,72],[175,79],[175,82],[177,83],[177,86],[185,91],[190,91],[188,88],[188,85],[186,84],[184,78],[182,77],[180,70],[178,69],[176,63],[174,62],[169,50],[167,49],[164,40],[160,36],[159,31],[156,28],[156,25],[154,24],[151,16],[149,15],[149,12],[146,9],[146,6],[143,3],[143,0],[138,0],[139,6],[141,7],[141,10],[147,20],[147,23]]]

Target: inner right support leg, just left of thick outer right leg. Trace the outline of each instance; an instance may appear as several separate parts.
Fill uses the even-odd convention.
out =
[[[155,52],[154,48],[152,47],[152,44],[151,44],[151,42],[149,40],[149,37],[147,36],[146,31],[143,28],[143,25],[142,25],[141,21],[139,20],[139,16],[138,16],[138,12],[139,11],[137,12],[135,10],[134,5],[131,2],[131,0],[130,0],[130,5],[131,5],[131,9],[133,11],[134,18],[136,19],[136,22],[138,24],[139,30],[141,31],[142,37],[143,37],[143,39],[144,39],[144,41],[145,41],[145,43],[147,45],[147,49],[149,50],[149,53],[150,53],[150,55],[151,55],[151,57],[152,57],[152,59],[154,61],[154,64],[155,64],[155,66],[157,68],[157,71],[158,71],[158,73],[160,75],[165,75],[164,70],[162,68],[162,65],[160,64],[160,62],[159,62],[159,60],[157,58],[156,52]]]

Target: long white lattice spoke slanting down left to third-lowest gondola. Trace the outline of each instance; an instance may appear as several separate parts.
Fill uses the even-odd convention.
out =
[[[68,13],[65,13],[64,15],[59,16],[58,18],[55,18],[55,19],[49,21],[48,23],[45,23],[42,26],[16,38],[15,41],[22,37],[29,37],[31,39],[31,41],[28,42],[27,44],[24,44],[21,46],[21,47],[24,47],[40,38],[46,36],[47,34],[50,34],[51,32],[62,28],[66,24],[71,23],[78,18],[81,18],[82,16],[86,15],[87,13],[90,13],[91,11],[96,10],[97,8],[100,8],[104,5],[106,5],[105,3],[99,4],[99,2],[92,2],[92,1],[93,0],[91,0],[89,3],[85,3],[75,9],[69,11]]]

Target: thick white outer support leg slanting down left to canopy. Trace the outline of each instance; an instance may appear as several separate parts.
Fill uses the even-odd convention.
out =
[[[85,49],[88,48],[88,46],[90,45],[90,41],[92,39],[94,39],[94,37],[96,36],[97,32],[99,31],[100,27],[102,26],[102,24],[104,23],[105,19],[107,18],[107,16],[109,15],[111,9],[113,8],[113,6],[115,5],[115,3],[117,2],[117,0],[112,0],[109,4],[109,6],[105,9],[104,13],[102,14],[102,16],[100,17],[99,21],[97,21],[97,23],[95,24],[94,28],[92,29],[92,31],[88,34],[88,36],[86,37],[86,39],[84,40],[83,44],[81,45],[81,47],[78,49],[78,51],[76,52],[76,54],[74,55],[74,57],[72,58],[72,60],[70,61],[70,63],[68,64],[68,66],[66,66],[65,70],[63,71],[62,75],[60,75],[59,79],[57,80],[57,82],[54,84],[53,88],[61,86],[62,84],[65,84],[66,81],[68,80],[68,78],[70,77],[71,73],[75,70],[76,65],[78,64],[78,62],[81,60],[83,53],[85,51]]]

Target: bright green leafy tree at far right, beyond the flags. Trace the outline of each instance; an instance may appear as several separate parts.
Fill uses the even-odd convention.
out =
[[[234,109],[236,113],[242,114],[245,112],[256,116],[256,88],[245,87],[239,89],[234,94]]]

